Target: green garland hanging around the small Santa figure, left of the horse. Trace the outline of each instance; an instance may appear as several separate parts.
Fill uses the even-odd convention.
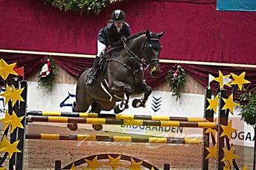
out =
[[[56,68],[56,63],[50,59],[51,62],[51,72],[46,77],[42,77],[40,72],[37,75],[37,87],[45,88],[47,91],[53,91],[53,85],[55,84],[56,75],[58,74],[58,69]]]

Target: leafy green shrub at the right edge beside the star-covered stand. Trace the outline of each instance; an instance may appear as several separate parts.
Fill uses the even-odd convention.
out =
[[[246,121],[248,125],[252,125],[256,129],[256,87],[248,91],[248,88],[243,89],[243,94],[240,95],[241,111],[239,116]],[[244,104],[244,102],[246,104]]]

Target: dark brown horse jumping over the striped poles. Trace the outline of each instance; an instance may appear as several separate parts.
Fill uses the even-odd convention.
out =
[[[151,95],[151,87],[144,82],[144,67],[149,68],[151,77],[160,73],[159,55],[162,46],[160,37],[164,32],[156,34],[148,30],[137,33],[126,39],[123,46],[110,50],[106,71],[99,73],[93,86],[85,84],[89,70],[81,73],[76,86],[75,112],[100,113],[114,109],[118,114],[128,108],[131,95],[143,93],[141,99],[135,98],[133,107],[145,107]],[[145,69],[146,69],[145,68]],[[120,104],[115,104],[120,102]],[[70,130],[77,130],[76,123],[69,123]],[[92,125],[94,130],[101,130],[102,125]]]

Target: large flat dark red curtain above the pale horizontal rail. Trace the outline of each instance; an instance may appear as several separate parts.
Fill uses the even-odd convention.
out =
[[[124,0],[95,15],[64,12],[44,0],[0,1],[0,49],[96,54],[113,10],[132,34],[166,31],[161,59],[256,65],[256,13],[216,11],[215,0]]]

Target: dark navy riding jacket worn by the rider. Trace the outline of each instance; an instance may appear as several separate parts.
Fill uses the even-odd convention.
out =
[[[115,27],[114,22],[112,22],[99,31],[98,40],[99,42],[105,44],[107,47],[108,45],[112,47],[121,45],[119,40],[122,37],[127,38],[128,36],[131,36],[131,29],[126,22],[123,23],[119,33],[117,33],[117,28]]]

